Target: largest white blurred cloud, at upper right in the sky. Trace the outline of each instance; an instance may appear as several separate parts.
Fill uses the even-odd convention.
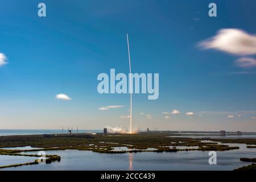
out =
[[[221,29],[217,35],[200,42],[199,46],[234,55],[254,55],[256,54],[256,36],[236,28]]]

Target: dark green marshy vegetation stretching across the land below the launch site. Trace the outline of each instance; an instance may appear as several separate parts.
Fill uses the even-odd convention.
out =
[[[103,137],[102,134],[77,134],[69,136],[68,134],[51,134],[51,135],[16,135],[0,137],[1,147],[38,147],[43,149],[32,150],[3,150],[0,149],[0,155],[16,156],[34,156],[27,155],[27,151],[48,151],[48,150],[90,150],[92,152],[122,154],[126,152],[177,152],[177,151],[225,151],[234,150],[239,147],[229,147],[224,144],[212,142],[201,142],[204,139],[192,139],[183,137],[170,137],[168,132],[152,132],[139,134],[112,134]],[[236,143],[233,139],[211,139],[215,141]],[[239,140],[237,143],[255,144],[256,139]],[[198,148],[177,149],[175,146],[187,146]],[[127,147],[128,150],[113,150],[114,147]],[[148,150],[153,148],[154,150]],[[47,163],[60,161],[60,156],[47,155]],[[38,164],[38,160],[31,163],[14,164],[3,167],[16,167],[23,165]]]

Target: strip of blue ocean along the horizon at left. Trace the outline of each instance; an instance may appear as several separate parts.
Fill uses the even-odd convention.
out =
[[[0,136],[7,135],[41,135],[41,134],[61,134],[62,130],[0,130]],[[68,130],[64,130],[68,133]],[[73,130],[76,133],[76,130]],[[103,133],[102,130],[78,130],[78,133]]]

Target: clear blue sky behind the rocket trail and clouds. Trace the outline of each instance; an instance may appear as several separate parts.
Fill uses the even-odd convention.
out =
[[[224,28],[256,34],[255,1],[214,1],[212,18],[212,1],[42,1],[43,18],[39,2],[0,2],[2,129],[128,127],[129,95],[97,92],[99,73],[129,72],[128,33],[132,72],[159,73],[158,100],[134,94],[134,127],[255,131],[256,69],[236,64],[255,53],[198,46]],[[124,107],[99,110],[111,105]]]

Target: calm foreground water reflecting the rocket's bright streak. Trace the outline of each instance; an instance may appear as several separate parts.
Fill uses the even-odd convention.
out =
[[[240,162],[240,158],[255,158],[256,148],[246,148],[246,144],[228,145],[238,146],[240,149],[217,151],[217,165],[209,165],[207,151],[100,154],[92,151],[65,150],[46,151],[47,154],[61,156],[60,162],[2,170],[233,170],[250,164]],[[11,156],[0,155],[0,159],[6,161],[9,161],[9,157],[11,159]]]

